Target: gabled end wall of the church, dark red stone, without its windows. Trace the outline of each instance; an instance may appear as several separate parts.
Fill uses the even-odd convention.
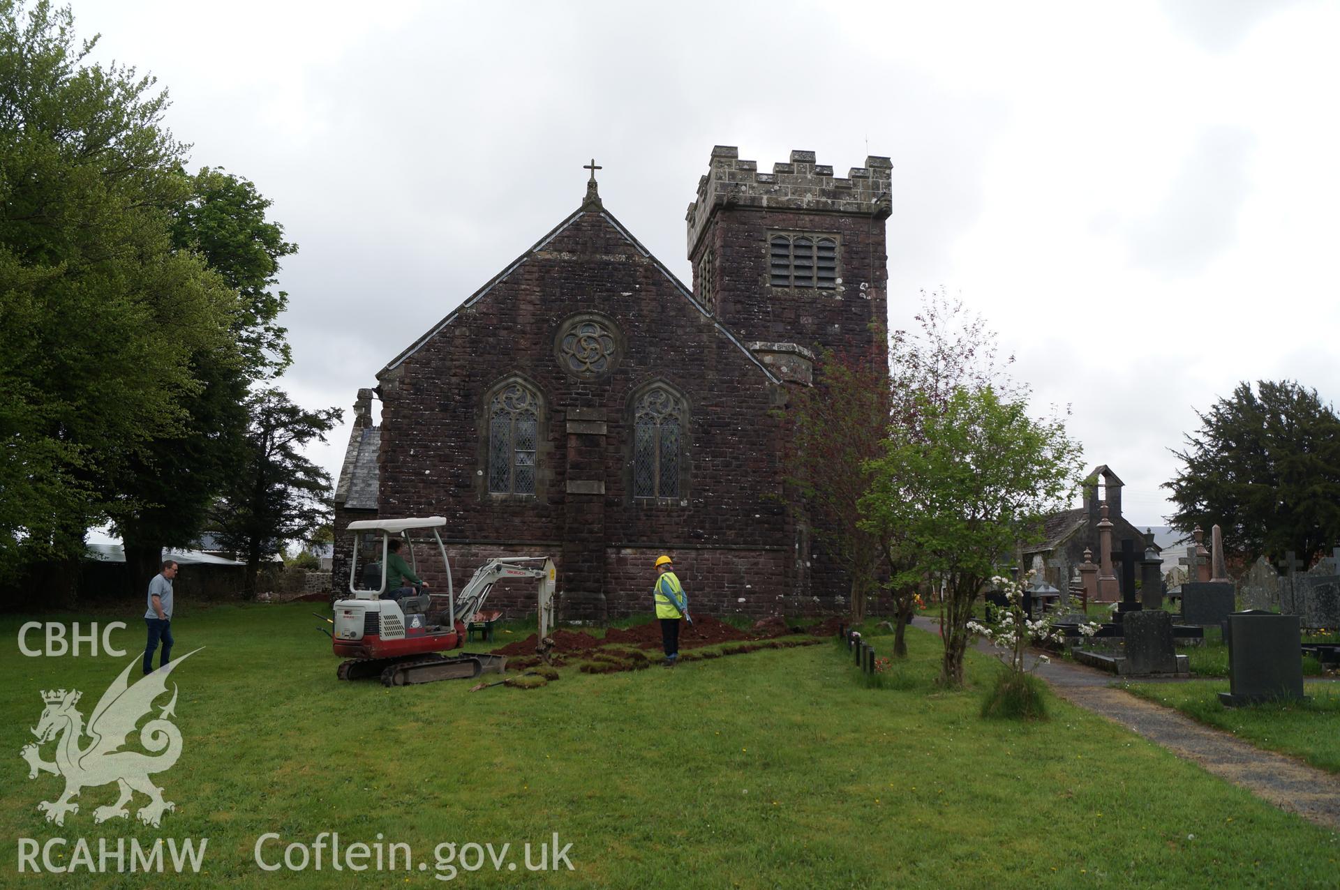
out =
[[[582,312],[618,332],[604,375],[576,376],[556,359],[556,332]],[[488,406],[512,377],[543,399],[535,495],[486,484]],[[599,213],[576,218],[381,381],[382,515],[444,515],[444,537],[469,541],[472,555],[555,557],[565,618],[627,608],[611,602],[630,588],[607,577],[607,547],[792,545],[770,415],[780,384]],[[635,499],[632,399],[654,381],[687,404],[683,484],[678,498]],[[453,558],[464,567],[472,557]],[[769,571],[776,586],[781,569]]]

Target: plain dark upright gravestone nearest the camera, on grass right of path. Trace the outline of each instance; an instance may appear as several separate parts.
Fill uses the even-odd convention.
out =
[[[1302,633],[1298,616],[1234,612],[1225,622],[1229,692],[1225,707],[1302,697]]]

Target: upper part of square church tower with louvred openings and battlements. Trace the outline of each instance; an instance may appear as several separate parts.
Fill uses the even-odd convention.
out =
[[[760,173],[716,146],[686,217],[695,298],[775,368],[808,364],[787,355],[816,345],[871,348],[870,323],[887,324],[891,175],[888,158],[870,157],[833,177],[813,151]]]

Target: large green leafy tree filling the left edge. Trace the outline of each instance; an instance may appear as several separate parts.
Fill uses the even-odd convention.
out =
[[[239,309],[173,242],[189,182],[166,94],[92,46],[68,9],[0,0],[0,571],[82,551]]]

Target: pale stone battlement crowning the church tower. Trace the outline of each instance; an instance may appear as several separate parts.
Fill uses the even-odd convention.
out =
[[[894,165],[871,155],[866,166],[846,177],[815,163],[813,151],[792,151],[787,163],[758,173],[758,163],[741,161],[736,146],[714,146],[708,175],[698,179],[698,198],[689,205],[689,256],[716,207],[758,207],[804,213],[847,213],[886,218],[892,211],[890,183]]]

